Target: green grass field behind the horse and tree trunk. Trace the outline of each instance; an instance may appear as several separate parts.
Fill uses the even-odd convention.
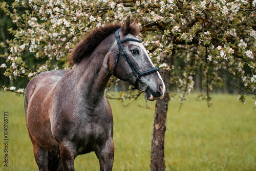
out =
[[[256,109],[249,96],[212,95],[213,105],[196,101],[196,94],[178,112],[169,102],[165,134],[166,170],[256,170]],[[143,98],[123,107],[110,101],[114,115],[113,170],[150,170],[155,102]],[[8,112],[8,168],[4,166],[4,112]],[[24,111],[24,97],[0,92],[0,170],[38,170]],[[76,170],[99,170],[94,153],[78,156]]]

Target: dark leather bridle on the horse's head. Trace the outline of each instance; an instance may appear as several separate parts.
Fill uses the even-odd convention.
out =
[[[133,62],[131,61],[131,59],[129,58],[129,56],[127,55],[126,51],[124,50],[124,48],[122,46],[122,43],[125,42],[125,41],[137,41],[137,42],[141,43],[142,41],[138,40],[138,39],[134,39],[134,38],[125,38],[125,39],[120,40],[120,35],[119,35],[120,30],[121,30],[121,28],[115,31],[115,37],[116,37],[116,40],[117,40],[118,50],[117,50],[117,55],[116,55],[114,76],[116,75],[117,61],[118,61],[119,53],[121,52],[124,59],[126,60],[128,65],[130,66],[130,68],[133,71],[133,74],[136,77],[135,89],[138,89],[140,91],[145,92],[148,89],[148,83],[145,82],[145,81],[142,81],[140,79],[140,77],[143,76],[143,75],[147,75],[147,74],[151,74],[153,72],[159,71],[159,69],[157,67],[155,67],[155,68],[152,68],[150,70],[143,71],[143,72],[138,71],[137,68],[134,66]]]

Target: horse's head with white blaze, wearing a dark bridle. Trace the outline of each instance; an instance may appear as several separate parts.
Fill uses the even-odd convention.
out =
[[[115,65],[112,65],[112,74],[121,80],[128,81],[135,88],[145,91],[147,100],[163,98],[165,92],[164,82],[155,68],[141,41],[133,35],[137,27],[137,18],[130,24],[127,17],[122,28],[115,32],[116,41],[113,50]],[[136,30],[136,29],[135,29]]]

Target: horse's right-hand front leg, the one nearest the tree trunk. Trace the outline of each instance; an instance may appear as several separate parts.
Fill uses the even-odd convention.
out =
[[[101,171],[111,171],[114,161],[114,141],[113,138],[110,138],[102,146],[102,148],[95,152],[97,158],[99,159],[99,165]]]

